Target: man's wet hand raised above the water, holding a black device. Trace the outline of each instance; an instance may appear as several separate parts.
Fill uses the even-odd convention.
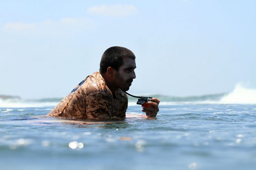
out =
[[[160,100],[158,98],[152,98],[154,102],[146,102],[145,104],[150,104],[151,107],[143,107],[142,111],[146,113],[146,118],[156,117],[159,111],[158,104]]]

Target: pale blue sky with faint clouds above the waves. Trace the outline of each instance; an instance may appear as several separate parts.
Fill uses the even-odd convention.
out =
[[[256,1],[0,0],[0,94],[64,97],[112,46],[136,55],[133,95],[256,88]]]

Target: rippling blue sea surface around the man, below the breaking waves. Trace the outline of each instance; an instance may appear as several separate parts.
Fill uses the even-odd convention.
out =
[[[129,103],[122,120],[48,117],[56,103],[0,107],[0,169],[255,170],[256,104]]]

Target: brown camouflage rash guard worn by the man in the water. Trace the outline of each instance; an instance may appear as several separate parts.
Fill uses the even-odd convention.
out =
[[[76,88],[48,115],[90,119],[125,117],[128,106],[126,94],[118,89],[115,92],[116,99],[113,99],[100,72],[89,75],[85,82]]]

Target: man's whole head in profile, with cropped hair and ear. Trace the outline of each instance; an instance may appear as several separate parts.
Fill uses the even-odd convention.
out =
[[[110,47],[102,55],[100,73],[104,75],[108,88],[115,91],[120,88],[129,90],[136,78],[135,55],[124,47]]]

